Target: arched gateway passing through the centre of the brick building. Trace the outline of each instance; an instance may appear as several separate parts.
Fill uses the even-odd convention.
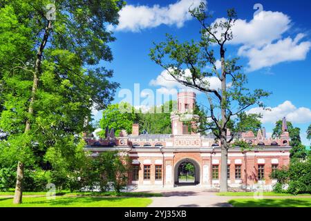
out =
[[[174,166],[174,184],[196,185],[200,183],[200,164],[191,158],[184,158]]]

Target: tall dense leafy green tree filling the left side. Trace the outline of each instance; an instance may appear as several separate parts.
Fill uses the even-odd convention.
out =
[[[91,108],[109,104],[118,86],[98,64],[113,59],[106,25],[117,24],[124,1],[56,1],[56,19],[48,3],[0,3],[0,128],[9,133],[0,147],[16,155],[15,204],[35,153],[53,147],[68,157],[65,141],[86,130]]]

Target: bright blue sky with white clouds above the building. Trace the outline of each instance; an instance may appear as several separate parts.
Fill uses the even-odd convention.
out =
[[[181,86],[163,81],[166,73],[149,58],[153,41],[164,40],[165,33],[180,41],[198,39],[200,26],[191,19],[187,9],[200,0],[128,0],[120,12],[120,23],[110,27],[117,40],[110,44],[114,60],[102,65],[115,72],[113,80],[120,83],[113,103],[120,102],[120,90],[173,91]],[[202,1],[202,0],[201,0]],[[254,17],[254,4],[261,3],[263,12]],[[249,79],[249,88],[263,88],[272,95],[263,102],[272,108],[269,113],[253,106],[250,113],[263,113],[263,126],[272,132],[276,119],[287,117],[301,128],[303,144],[310,144],[305,131],[311,124],[311,1],[241,1],[207,0],[210,22],[225,17],[228,8],[235,8],[238,22],[235,38],[227,46],[227,56],[240,57],[239,64]],[[259,12],[259,11],[258,11]],[[161,75],[162,74],[162,75]],[[217,87],[217,82],[213,83]],[[173,97],[174,99],[174,97]],[[142,102],[144,97],[140,97]],[[198,95],[200,104],[207,103]],[[95,112],[95,120],[101,113]]]

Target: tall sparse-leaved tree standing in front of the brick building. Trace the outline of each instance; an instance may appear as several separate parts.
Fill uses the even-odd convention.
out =
[[[234,140],[227,137],[228,122],[240,115],[249,106],[258,104],[263,106],[260,99],[270,93],[261,89],[254,91],[245,87],[247,77],[241,73],[241,66],[237,65],[237,58],[225,57],[227,41],[232,40],[232,26],[236,21],[234,9],[227,10],[227,19],[207,24],[209,15],[205,11],[205,3],[200,3],[198,8],[189,10],[192,17],[198,20],[202,30],[200,41],[191,40],[180,43],[178,39],[167,35],[167,40],[155,44],[150,50],[151,60],[167,70],[176,81],[181,84],[200,90],[207,95],[209,103],[209,119],[211,123],[206,129],[213,131],[220,140],[221,147],[221,177],[220,191],[227,191],[227,155],[229,143]],[[218,57],[214,49],[218,48]],[[217,58],[220,60],[221,70],[216,68]],[[207,66],[211,66],[207,70]],[[209,77],[217,77],[221,88],[216,90],[210,87]],[[231,81],[231,82],[230,82]],[[230,82],[230,84],[229,84]],[[218,117],[220,115],[220,117]],[[232,126],[236,128],[236,125]]]

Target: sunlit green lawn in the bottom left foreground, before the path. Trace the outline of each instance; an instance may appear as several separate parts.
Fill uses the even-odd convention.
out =
[[[55,200],[45,197],[23,198],[23,204],[12,204],[12,198],[0,198],[0,207],[145,207],[149,198],[95,198],[57,196]]]

